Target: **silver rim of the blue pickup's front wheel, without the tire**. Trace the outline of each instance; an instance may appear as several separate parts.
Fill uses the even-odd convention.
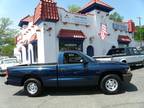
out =
[[[115,79],[108,79],[105,83],[105,87],[107,90],[114,92],[118,88],[118,82]]]

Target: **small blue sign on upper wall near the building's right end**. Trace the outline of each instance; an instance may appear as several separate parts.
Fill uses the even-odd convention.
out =
[[[124,23],[113,23],[113,29],[115,30],[120,30],[120,31],[128,31],[128,26],[127,24]]]

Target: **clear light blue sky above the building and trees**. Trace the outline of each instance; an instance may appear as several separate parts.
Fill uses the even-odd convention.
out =
[[[28,14],[33,15],[34,9],[40,0],[0,0],[0,18],[9,17],[13,21],[13,26],[18,27],[19,21]],[[71,4],[83,7],[90,0],[55,0],[59,7],[67,9]],[[141,17],[144,25],[144,0],[102,0],[114,8],[124,17],[124,21],[132,19],[136,25]]]

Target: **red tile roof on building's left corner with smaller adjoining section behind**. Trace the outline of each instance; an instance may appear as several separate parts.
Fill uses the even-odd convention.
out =
[[[20,20],[19,26],[29,22],[37,23],[39,20],[53,21],[59,20],[58,9],[54,0],[40,0],[40,3],[35,8],[34,16],[26,16]]]

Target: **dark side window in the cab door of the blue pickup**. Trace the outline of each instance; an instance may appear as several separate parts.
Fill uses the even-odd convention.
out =
[[[64,54],[64,64],[76,64],[82,63],[83,58],[75,53],[65,53]]]

